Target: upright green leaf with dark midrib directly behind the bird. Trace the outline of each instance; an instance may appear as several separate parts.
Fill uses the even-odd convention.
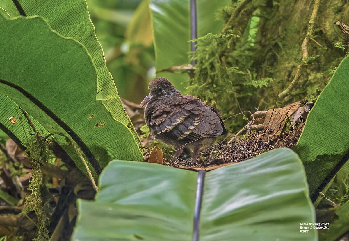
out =
[[[223,29],[223,21],[217,21],[215,11],[227,5],[231,0],[196,1],[196,26],[197,37],[207,33],[219,33]],[[172,66],[189,63],[188,52],[191,40],[190,0],[159,1],[149,0],[151,10],[154,46],[155,67],[157,71],[168,69]],[[187,74],[160,72],[172,81],[180,90],[185,86],[180,85],[189,79]]]

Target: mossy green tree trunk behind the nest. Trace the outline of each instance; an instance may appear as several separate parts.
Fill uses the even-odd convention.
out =
[[[190,93],[220,109],[224,119],[246,110],[272,108],[278,94],[291,84],[298,65],[305,63],[297,85],[284,99],[277,100],[276,107],[316,100],[348,48],[343,43],[346,37],[333,24],[335,19],[349,24],[343,10],[348,3],[320,1],[303,59],[301,45],[314,1],[252,0],[239,8],[242,2],[231,3],[217,14],[226,23],[232,15],[237,16],[227,24],[231,26],[227,33],[197,39]],[[238,115],[225,123],[229,132],[236,132],[247,122]]]

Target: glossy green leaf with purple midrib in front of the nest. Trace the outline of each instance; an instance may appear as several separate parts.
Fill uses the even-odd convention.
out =
[[[78,201],[72,240],[192,240],[198,173],[143,162],[112,161],[96,201]],[[200,240],[316,240],[298,156],[276,149],[206,174]]]

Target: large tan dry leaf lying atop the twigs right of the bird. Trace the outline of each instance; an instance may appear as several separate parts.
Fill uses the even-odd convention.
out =
[[[283,108],[270,109],[267,111],[264,120],[264,127],[268,127],[273,130],[273,134],[280,134],[285,123],[287,116],[291,116],[292,113],[297,112],[300,108],[300,101],[292,104],[287,104]]]

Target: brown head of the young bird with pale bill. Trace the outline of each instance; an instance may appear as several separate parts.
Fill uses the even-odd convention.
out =
[[[141,107],[151,100],[180,94],[180,91],[177,90],[176,87],[174,87],[172,83],[164,77],[158,77],[151,80],[148,90],[150,91],[150,93],[146,97],[144,97],[144,100],[141,103]]]

